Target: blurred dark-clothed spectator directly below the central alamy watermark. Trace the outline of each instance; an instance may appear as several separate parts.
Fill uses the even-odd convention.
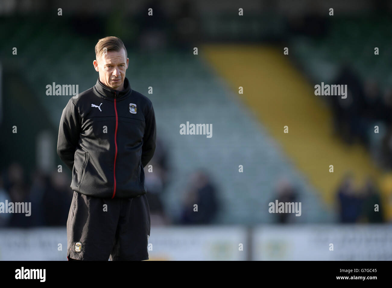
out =
[[[210,224],[218,212],[218,199],[215,185],[209,176],[199,170],[191,175],[186,198],[183,201],[181,224]],[[194,211],[194,205],[198,211]]]

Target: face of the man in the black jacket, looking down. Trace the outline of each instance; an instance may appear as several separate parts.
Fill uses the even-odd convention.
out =
[[[93,65],[99,72],[99,80],[103,85],[116,91],[124,90],[125,71],[129,63],[125,50],[107,51],[107,54],[102,54],[98,58],[94,60]]]

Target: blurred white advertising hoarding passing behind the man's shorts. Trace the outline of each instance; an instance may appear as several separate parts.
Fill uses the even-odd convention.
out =
[[[245,241],[245,228],[235,226],[151,227],[149,259],[245,260]],[[66,261],[66,254],[65,227],[0,229],[0,261]]]

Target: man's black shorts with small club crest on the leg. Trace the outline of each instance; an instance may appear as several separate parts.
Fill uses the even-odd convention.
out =
[[[145,195],[105,199],[74,191],[67,220],[68,259],[148,260],[149,235]]]

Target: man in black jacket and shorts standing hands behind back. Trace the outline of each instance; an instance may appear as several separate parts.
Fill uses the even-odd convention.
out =
[[[143,167],[155,151],[151,101],[125,78],[129,58],[117,37],[100,39],[94,87],[72,97],[57,154],[72,170],[68,260],[147,260],[150,212]]]

